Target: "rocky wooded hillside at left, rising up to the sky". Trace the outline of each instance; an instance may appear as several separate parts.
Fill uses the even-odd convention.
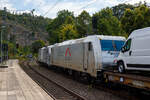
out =
[[[0,10],[1,25],[5,27],[4,40],[13,40],[19,45],[29,46],[35,40],[43,40],[46,43],[48,33],[46,27],[50,19],[32,14],[12,14],[7,10]]]

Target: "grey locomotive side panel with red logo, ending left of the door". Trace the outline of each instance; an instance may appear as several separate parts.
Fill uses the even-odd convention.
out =
[[[83,43],[56,46],[51,52],[52,65],[77,71],[83,70]]]

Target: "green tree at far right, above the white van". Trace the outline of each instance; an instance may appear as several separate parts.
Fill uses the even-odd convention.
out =
[[[134,10],[126,9],[121,24],[128,35],[135,29],[150,26],[150,8],[143,4]]]

